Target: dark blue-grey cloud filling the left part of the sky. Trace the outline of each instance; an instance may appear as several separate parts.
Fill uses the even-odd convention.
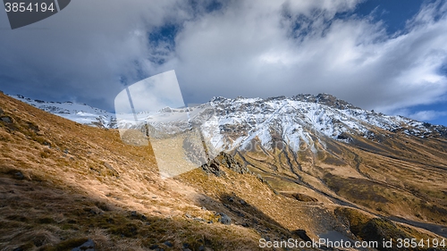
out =
[[[132,82],[154,73],[150,64],[139,65],[151,53],[147,33],[166,20],[188,18],[181,8],[174,1],[80,0],[14,30],[0,12],[0,88],[113,110],[123,76]]]

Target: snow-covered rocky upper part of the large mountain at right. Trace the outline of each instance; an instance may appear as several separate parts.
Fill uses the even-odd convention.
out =
[[[300,142],[308,143],[311,136],[320,135],[347,143],[350,135],[378,141],[394,132],[418,138],[447,137],[443,126],[365,111],[326,94],[267,99],[215,97],[210,105],[215,116],[202,129],[222,148],[243,148],[253,138],[269,148],[274,138],[280,137],[296,151]]]

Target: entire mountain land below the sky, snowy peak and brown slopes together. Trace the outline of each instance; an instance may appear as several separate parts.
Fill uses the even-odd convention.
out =
[[[156,114],[131,123],[0,94],[0,249],[301,250],[261,244],[326,239],[352,246],[306,250],[447,250],[446,127],[327,94],[215,97],[158,115],[186,112],[211,158],[164,179],[156,149],[124,144],[118,129],[177,133],[142,126]]]

